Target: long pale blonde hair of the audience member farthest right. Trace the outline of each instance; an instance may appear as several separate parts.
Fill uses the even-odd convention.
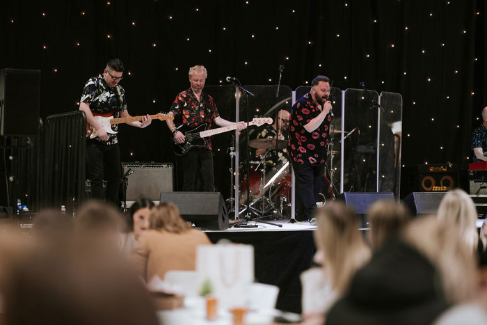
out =
[[[456,230],[460,240],[474,252],[477,248],[477,227],[475,221],[479,217],[472,198],[461,189],[449,191],[441,200],[438,221],[446,223]]]

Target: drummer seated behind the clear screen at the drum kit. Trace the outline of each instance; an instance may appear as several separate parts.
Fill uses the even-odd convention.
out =
[[[260,130],[260,132],[257,134],[257,139],[273,138],[287,140],[287,129],[289,129],[289,111],[281,109],[273,124],[266,125],[264,129]],[[266,162],[269,163],[269,166],[276,166],[279,163],[285,164],[287,162],[286,149],[284,148],[277,151],[275,149],[276,148],[257,149],[255,150],[255,156],[259,158],[266,155]]]

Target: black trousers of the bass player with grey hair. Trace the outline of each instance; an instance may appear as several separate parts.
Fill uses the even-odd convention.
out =
[[[193,148],[184,154],[182,157],[182,162],[184,170],[183,191],[195,191],[195,177],[198,172],[198,168],[200,168],[203,191],[215,191],[213,152],[211,150],[205,148]]]

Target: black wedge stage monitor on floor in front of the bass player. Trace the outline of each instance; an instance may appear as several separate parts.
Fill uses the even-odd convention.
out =
[[[228,212],[220,192],[161,192],[159,200],[174,203],[186,221],[208,230],[228,228]]]

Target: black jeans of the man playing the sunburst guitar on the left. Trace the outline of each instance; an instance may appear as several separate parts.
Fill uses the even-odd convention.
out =
[[[102,182],[106,180],[106,201],[118,207],[118,185],[122,178],[118,143],[106,145],[96,139],[86,140],[86,173],[91,180],[91,197],[104,200]]]

